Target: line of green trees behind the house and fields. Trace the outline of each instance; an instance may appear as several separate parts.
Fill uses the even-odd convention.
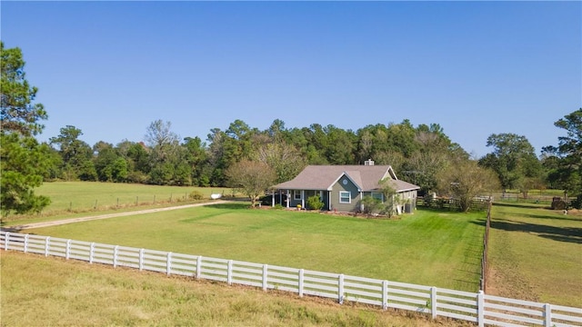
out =
[[[498,185],[527,195],[530,189],[552,188],[578,195],[580,202],[582,108],[554,123],[566,135],[543,148],[540,157],[525,136],[507,133],[491,134],[487,146],[492,152],[472,158],[439,124],[414,126],[408,120],[356,131],[332,124],[286,128],[279,119],[259,130],[235,120],[224,131],[212,129],[203,141],[180,138],[170,122],[160,119],[145,126],[143,141],[86,144],[80,129],[66,125],[39,143],[35,135],[48,116],[34,102],[37,88],[25,79],[22,52],[2,44],[1,53],[3,215],[42,210],[49,200],[34,189],[46,181],[236,187],[240,178],[234,172],[240,177],[241,165],[246,167],[242,172],[250,165],[255,173],[272,176],[266,183],[281,183],[307,164],[362,164],[367,159],[392,165],[421,193],[470,195]]]

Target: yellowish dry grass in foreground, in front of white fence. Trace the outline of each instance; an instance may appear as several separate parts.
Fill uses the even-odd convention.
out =
[[[3,326],[469,326],[286,292],[1,252]]]

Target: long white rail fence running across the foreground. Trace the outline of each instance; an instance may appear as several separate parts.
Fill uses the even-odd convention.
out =
[[[65,240],[50,236],[0,232],[5,250],[53,255],[88,263],[124,266],[262,288],[425,312],[479,326],[582,326],[582,309],[520,301],[437,287],[389,282],[341,273],[314,272],[260,263],[207,258],[119,245]]]

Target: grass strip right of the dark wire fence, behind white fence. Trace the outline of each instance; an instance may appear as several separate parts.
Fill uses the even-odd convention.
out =
[[[582,307],[582,213],[496,203],[487,293]]]

